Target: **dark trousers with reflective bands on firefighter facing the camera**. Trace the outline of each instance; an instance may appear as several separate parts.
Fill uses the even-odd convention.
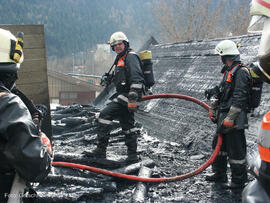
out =
[[[119,120],[120,126],[125,134],[125,144],[129,150],[137,149],[137,128],[134,123],[134,113],[128,111],[128,107],[117,102],[109,103],[101,110],[98,118],[98,147],[106,148],[108,145],[108,134],[112,130],[112,120]]]

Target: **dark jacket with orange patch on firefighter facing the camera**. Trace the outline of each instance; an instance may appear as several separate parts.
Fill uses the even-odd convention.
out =
[[[117,56],[115,65],[113,83],[117,94],[113,96],[113,101],[127,105],[127,95],[131,89],[139,95],[143,91],[144,77],[141,62],[137,54],[129,49],[123,56]]]

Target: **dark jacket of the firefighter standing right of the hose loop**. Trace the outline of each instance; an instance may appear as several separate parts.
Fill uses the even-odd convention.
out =
[[[251,76],[249,70],[235,62],[231,67],[227,67],[223,74],[223,79],[219,85],[219,117],[218,126],[227,116],[230,107],[233,105],[241,108],[241,113],[234,121],[237,129],[248,127],[247,112],[249,108]]]

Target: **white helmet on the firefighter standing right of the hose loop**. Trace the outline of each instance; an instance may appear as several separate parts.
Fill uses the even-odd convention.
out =
[[[240,52],[232,40],[223,40],[215,48],[215,53],[220,56],[239,55]]]

